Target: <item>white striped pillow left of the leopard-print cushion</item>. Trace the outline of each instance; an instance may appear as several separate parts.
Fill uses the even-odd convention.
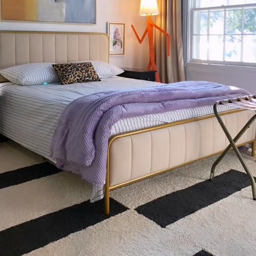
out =
[[[34,85],[54,83],[59,77],[50,62],[28,63],[0,70],[0,74],[14,84]]]

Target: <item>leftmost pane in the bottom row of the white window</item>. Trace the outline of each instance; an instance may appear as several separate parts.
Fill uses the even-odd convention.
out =
[[[193,59],[207,60],[207,36],[193,36]]]

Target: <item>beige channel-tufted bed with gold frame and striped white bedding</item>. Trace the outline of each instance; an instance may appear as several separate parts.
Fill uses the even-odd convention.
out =
[[[107,35],[101,33],[0,33],[1,69],[26,63],[89,60],[108,63],[108,51]],[[102,75],[101,87],[95,84],[97,82],[93,85],[86,83],[89,92],[85,92],[80,84],[72,89],[55,82],[20,86],[1,76],[0,133],[54,163],[50,156],[51,140],[60,115],[70,102],[85,94],[117,90],[121,86],[122,89],[158,86],[153,82],[118,77],[116,74],[110,77]],[[161,113],[124,118],[111,127],[106,161],[103,161],[106,214],[109,213],[110,190],[219,154],[228,145],[212,114],[212,106],[170,112],[170,115]],[[231,135],[235,135],[254,115],[254,111],[231,110],[223,106],[221,115]],[[248,143],[252,143],[254,156],[254,124],[237,142],[239,146]],[[70,171],[79,173],[75,169]],[[94,185],[97,187],[97,184]]]

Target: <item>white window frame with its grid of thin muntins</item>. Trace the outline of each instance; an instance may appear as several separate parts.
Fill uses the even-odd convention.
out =
[[[214,7],[194,7],[193,3],[195,4],[195,1],[193,0],[189,0],[188,1],[188,44],[187,44],[187,62],[193,62],[193,63],[210,63],[210,64],[218,64],[218,65],[231,65],[231,66],[249,66],[249,67],[256,67],[256,62],[242,62],[242,61],[225,61],[225,37],[226,35],[230,35],[230,34],[226,34],[225,28],[226,28],[226,10],[227,9],[232,9],[232,8],[242,8],[242,12],[244,11],[245,8],[247,7],[256,7],[256,3],[255,4],[241,4],[241,5],[222,5],[222,6],[214,6]],[[197,35],[197,34],[193,34],[193,25],[194,25],[194,12],[198,11],[198,10],[207,10],[208,11],[208,19],[210,17],[210,11],[211,10],[223,10],[224,11],[224,32],[223,32],[223,60],[222,61],[216,61],[216,60],[209,60],[209,50],[207,50],[207,60],[200,60],[200,59],[193,59],[193,35]],[[251,35],[251,34],[244,34],[243,33],[243,14],[242,14],[242,31],[241,34],[237,34],[237,35],[241,35],[241,60],[243,59],[243,36],[244,35]],[[208,21],[208,29],[207,29],[207,42],[209,42],[209,21]],[[254,35],[254,34],[253,34]]]

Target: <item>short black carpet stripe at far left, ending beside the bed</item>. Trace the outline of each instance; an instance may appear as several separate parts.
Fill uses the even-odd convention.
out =
[[[41,164],[26,166],[14,171],[4,172],[0,174],[0,189],[18,185],[26,181],[39,179],[61,171],[61,169],[58,169],[49,162],[44,162]]]

